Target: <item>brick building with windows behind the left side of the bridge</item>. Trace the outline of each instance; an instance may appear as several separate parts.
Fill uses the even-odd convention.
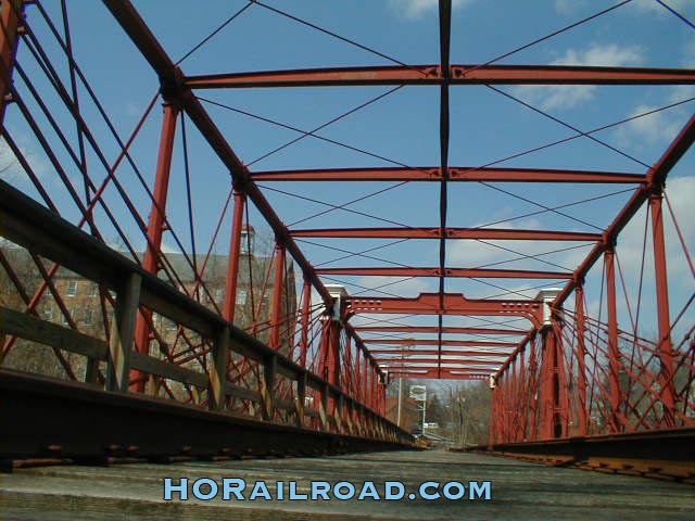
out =
[[[244,249],[242,249],[239,263],[235,325],[267,342],[270,300],[276,284],[275,263],[273,257],[254,254],[252,230],[251,233],[249,240],[242,241]],[[206,262],[204,255],[187,259],[182,254],[167,253],[166,258],[167,265],[170,267],[169,270],[176,274],[175,285],[179,291],[188,293],[206,307],[222,309],[225,298],[227,255],[211,255]],[[42,266],[37,266],[36,260],[42,262]],[[206,291],[202,291],[200,288],[197,290],[191,263],[195,265],[199,272],[202,271],[202,266],[205,266],[202,280]],[[39,259],[39,257],[33,258],[29,252],[24,249],[9,243],[0,244],[0,306],[25,310],[27,297],[30,298],[42,283],[40,270],[48,271],[51,264],[46,259]],[[7,267],[10,267],[11,270]],[[160,271],[160,277],[166,277],[168,280],[164,270]],[[101,294],[99,285],[62,267],[53,275],[51,281],[51,285],[47,288],[39,300],[38,316],[64,327],[74,327],[90,336],[105,339],[105,331],[112,323],[114,314],[108,303],[102,306],[102,298],[105,298],[105,295]],[[18,290],[15,282],[20,282],[23,290]],[[60,300],[55,297],[56,294],[60,295]],[[62,302],[62,305],[59,301]],[[295,313],[294,266],[291,259],[288,259],[281,316],[295,317]],[[181,331],[175,322],[155,315],[153,316],[153,325],[155,340],[150,344],[151,354],[155,354],[154,352],[161,351],[162,347],[170,351],[181,341]],[[184,334],[187,334],[189,339],[191,336],[190,332],[184,332]],[[157,342],[166,345],[157,345]],[[291,342],[291,334],[281,335],[280,351],[288,353]],[[49,374],[56,371],[53,376],[64,376],[60,366],[55,364],[56,358],[50,350],[31,345],[27,341],[17,341],[2,361],[4,367],[38,370],[38,372]],[[83,368],[79,368],[80,372],[81,370]]]

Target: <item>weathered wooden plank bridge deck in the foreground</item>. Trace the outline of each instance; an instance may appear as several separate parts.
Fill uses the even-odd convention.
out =
[[[165,476],[308,482],[491,481],[491,500],[163,501]],[[359,488],[359,486],[358,486]],[[203,487],[203,491],[206,491]],[[249,494],[250,488],[245,494]],[[695,519],[692,485],[439,450],[172,465],[43,467],[0,475],[3,520]],[[467,495],[466,495],[467,497]]]

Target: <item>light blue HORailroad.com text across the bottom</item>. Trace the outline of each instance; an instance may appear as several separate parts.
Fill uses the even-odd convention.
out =
[[[201,478],[189,482],[187,478],[178,480],[164,478],[164,499],[186,501],[189,498],[211,500],[400,500],[400,499],[447,499],[447,500],[476,500],[491,499],[491,483],[489,481],[469,481],[467,484],[458,481],[439,483],[426,481],[413,490],[407,491],[400,481],[386,481],[383,484],[375,484],[374,481],[352,483],[340,481],[311,481],[308,486],[299,491],[296,481],[255,481],[247,483],[239,478],[223,478],[219,481],[210,478]]]

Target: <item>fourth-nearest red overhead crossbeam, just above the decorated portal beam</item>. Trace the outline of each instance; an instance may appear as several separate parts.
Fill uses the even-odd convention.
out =
[[[354,275],[378,277],[480,277],[488,279],[571,279],[571,271],[536,271],[484,268],[319,268],[318,275]]]

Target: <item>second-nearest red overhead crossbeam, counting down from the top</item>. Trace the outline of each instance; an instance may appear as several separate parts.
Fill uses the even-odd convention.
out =
[[[391,168],[320,168],[303,170],[254,171],[256,181],[441,181],[442,169],[437,166]],[[643,174],[557,170],[539,168],[496,168],[452,166],[450,181],[489,182],[583,182],[634,183],[644,182]]]

